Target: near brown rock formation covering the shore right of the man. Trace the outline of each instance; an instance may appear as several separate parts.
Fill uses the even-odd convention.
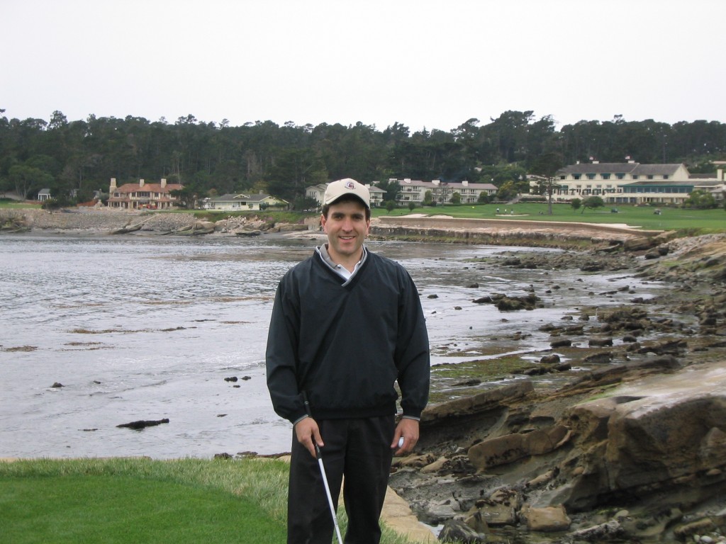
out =
[[[590,339],[579,370],[556,371],[565,384],[489,384],[426,409],[391,487],[442,540],[726,541],[726,236],[667,244],[672,260],[639,264],[677,280],[658,300],[545,327]]]

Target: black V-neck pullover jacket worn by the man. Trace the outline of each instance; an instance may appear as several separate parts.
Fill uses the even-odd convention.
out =
[[[275,294],[266,349],[274,411],[295,422],[396,413],[418,418],[428,401],[431,362],[420,297],[409,273],[368,252],[343,279],[314,255],[291,268]]]

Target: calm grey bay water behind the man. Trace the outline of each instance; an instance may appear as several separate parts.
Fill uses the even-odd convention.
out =
[[[264,347],[277,281],[319,240],[171,236],[0,236],[0,457],[280,453],[290,424],[269,403]],[[479,358],[492,338],[537,333],[591,292],[658,289],[632,277],[483,268],[508,249],[373,242],[422,293],[433,364]],[[477,282],[481,287],[468,287]],[[556,282],[547,308],[508,313],[471,301]],[[436,294],[436,298],[429,295]],[[565,296],[562,296],[565,294]],[[611,295],[605,303],[628,300]],[[460,308],[460,309],[457,309]],[[237,376],[237,382],[225,378]],[[242,379],[248,377],[249,379]],[[63,385],[54,388],[59,382]],[[238,387],[235,387],[238,386]],[[142,431],[139,419],[168,418]]]

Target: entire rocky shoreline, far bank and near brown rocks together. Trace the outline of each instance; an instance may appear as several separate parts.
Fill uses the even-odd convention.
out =
[[[545,323],[551,349],[502,376],[510,384],[470,376],[455,400],[427,408],[415,454],[396,459],[391,475],[419,519],[443,527],[441,540],[462,542],[726,542],[726,235],[437,221],[375,221],[372,236],[571,248],[523,248],[476,265],[484,275],[502,265],[552,276],[635,271],[672,288]],[[0,210],[0,226],[59,235],[317,233],[314,221],[208,223],[110,210]],[[538,304],[534,292],[473,302],[510,319]]]

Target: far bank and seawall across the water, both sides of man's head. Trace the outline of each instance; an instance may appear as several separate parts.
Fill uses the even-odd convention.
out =
[[[135,234],[147,236],[287,236],[318,237],[317,219],[301,224],[270,224],[250,215],[212,223],[187,213],[159,213],[102,209],[27,210],[0,209],[2,234],[73,234],[102,236]],[[518,221],[516,219],[463,219],[420,214],[373,218],[370,239],[410,242],[560,247],[600,250],[640,241],[639,247],[655,247],[674,237],[664,231],[643,231],[628,226],[563,221]]]

